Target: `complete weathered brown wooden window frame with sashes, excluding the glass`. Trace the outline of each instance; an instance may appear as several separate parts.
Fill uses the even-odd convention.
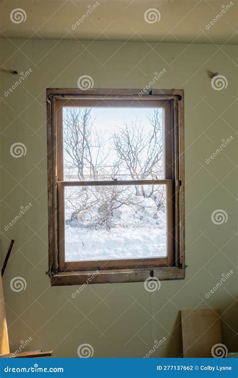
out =
[[[183,90],[47,89],[49,270],[52,285],[183,279],[184,264],[184,94]],[[64,106],[163,107],[165,110],[165,178],[163,180],[64,181]],[[163,258],[65,262],[64,188],[94,185],[166,185],[167,248]],[[60,219],[60,221],[59,221]],[[93,279],[88,279],[93,277]],[[88,282],[89,281],[89,282]]]

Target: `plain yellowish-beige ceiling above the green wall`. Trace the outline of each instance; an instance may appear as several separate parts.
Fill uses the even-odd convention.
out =
[[[237,44],[237,8],[237,0],[0,0],[0,38]]]

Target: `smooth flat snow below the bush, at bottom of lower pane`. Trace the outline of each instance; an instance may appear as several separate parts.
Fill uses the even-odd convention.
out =
[[[166,256],[166,232],[158,226],[110,231],[65,228],[66,261]]]

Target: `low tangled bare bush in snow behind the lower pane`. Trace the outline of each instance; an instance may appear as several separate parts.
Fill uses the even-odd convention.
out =
[[[69,187],[65,195],[66,210],[70,209],[66,224],[75,227],[109,231],[117,221],[120,223],[124,205],[139,217],[140,214],[149,214],[151,210],[143,196],[135,196],[130,186]]]

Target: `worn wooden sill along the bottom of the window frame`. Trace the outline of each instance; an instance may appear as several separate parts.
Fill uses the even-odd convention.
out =
[[[91,283],[142,282],[149,277],[161,281],[185,278],[185,268],[161,267],[150,269],[123,269],[84,272],[61,272],[50,276],[52,286],[82,285]]]

